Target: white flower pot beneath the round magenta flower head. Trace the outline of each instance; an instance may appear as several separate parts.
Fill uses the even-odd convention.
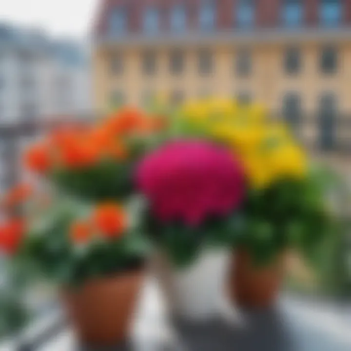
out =
[[[154,272],[173,317],[208,320],[220,313],[230,251],[205,251],[186,268],[172,267],[164,254],[154,257]]]

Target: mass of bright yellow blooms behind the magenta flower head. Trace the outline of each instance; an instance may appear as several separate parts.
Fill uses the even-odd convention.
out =
[[[267,187],[284,177],[306,174],[307,160],[283,122],[269,121],[264,107],[239,105],[229,99],[192,101],[183,117],[205,136],[226,144],[242,159],[254,188]]]

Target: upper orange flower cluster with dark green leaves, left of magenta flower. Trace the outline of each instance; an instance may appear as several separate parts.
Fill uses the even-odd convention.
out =
[[[93,126],[54,131],[33,145],[24,161],[81,199],[128,197],[134,165],[160,127],[160,118],[126,107]]]

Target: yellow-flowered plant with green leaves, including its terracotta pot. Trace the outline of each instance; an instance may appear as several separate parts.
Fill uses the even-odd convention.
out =
[[[243,165],[247,195],[229,290],[241,304],[267,307],[287,249],[311,254],[331,231],[328,187],[287,126],[260,106],[199,101],[183,106],[180,117],[181,128],[222,143]]]

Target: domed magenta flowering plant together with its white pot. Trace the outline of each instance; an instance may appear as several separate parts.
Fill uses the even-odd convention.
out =
[[[137,184],[148,203],[142,224],[162,257],[156,268],[172,312],[213,317],[245,194],[240,163],[212,143],[173,140],[141,161]]]

